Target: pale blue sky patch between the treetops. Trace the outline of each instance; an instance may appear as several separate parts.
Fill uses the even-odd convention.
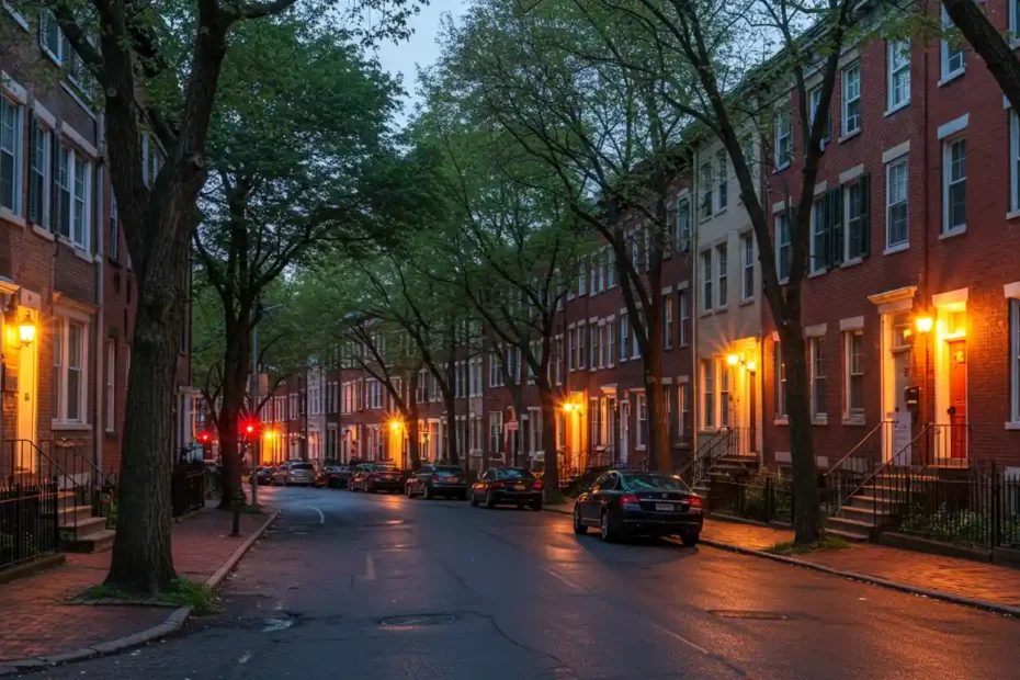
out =
[[[396,123],[403,125],[418,102],[416,89],[418,66],[431,66],[439,57],[435,35],[443,14],[461,15],[467,7],[467,0],[431,0],[421,8],[417,16],[408,22],[415,33],[409,41],[400,44],[383,43],[376,49],[383,69],[393,76],[403,76],[404,90],[408,93],[404,101],[404,111]]]

